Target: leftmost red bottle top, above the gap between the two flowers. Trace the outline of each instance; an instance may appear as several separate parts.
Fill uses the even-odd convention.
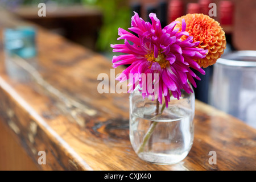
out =
[[[181,0],[171,0],[168,5],[168,22],[171,23],[184,15],[184,3]]]

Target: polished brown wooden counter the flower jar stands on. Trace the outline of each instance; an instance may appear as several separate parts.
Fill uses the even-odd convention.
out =
[[[0,17],[1,35],[3,27],[24,24]],[[110,77],[110,60],[40,27],[37,45],[36,59],[7,60],[1,44],[0,122],[39,169],[256,169],[255,129],[200,101],[187,158],[164,166],[142,161],[129,140],[129,94],[97,92],[98,75]],[[39,151],[46,152],[45,165],[37,163]],[[209,164],[210,151],[216,151],[217,164]]]

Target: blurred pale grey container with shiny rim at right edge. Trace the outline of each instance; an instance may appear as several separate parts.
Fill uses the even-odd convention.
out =
[[[210,105],[256,128],[256,51],[236,51],[217,60]]]

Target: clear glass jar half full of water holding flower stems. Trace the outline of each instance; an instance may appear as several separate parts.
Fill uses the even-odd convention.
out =
[[[130,142],[139,158],[174,164],[188,155],[194,137],[195,94],[181,93],[179,100],[171,96],[168,108],[157,98],[130,94]]]

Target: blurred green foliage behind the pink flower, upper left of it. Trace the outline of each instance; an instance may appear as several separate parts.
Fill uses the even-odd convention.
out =
[[[99,51],[110,51],[110,44],[121,44],[118,42],[118,28],[127,29],[131,22],[129,1],[125,0],[82,0],[84,5],[94,5],[103,13],[103,25],[97,41]]]

